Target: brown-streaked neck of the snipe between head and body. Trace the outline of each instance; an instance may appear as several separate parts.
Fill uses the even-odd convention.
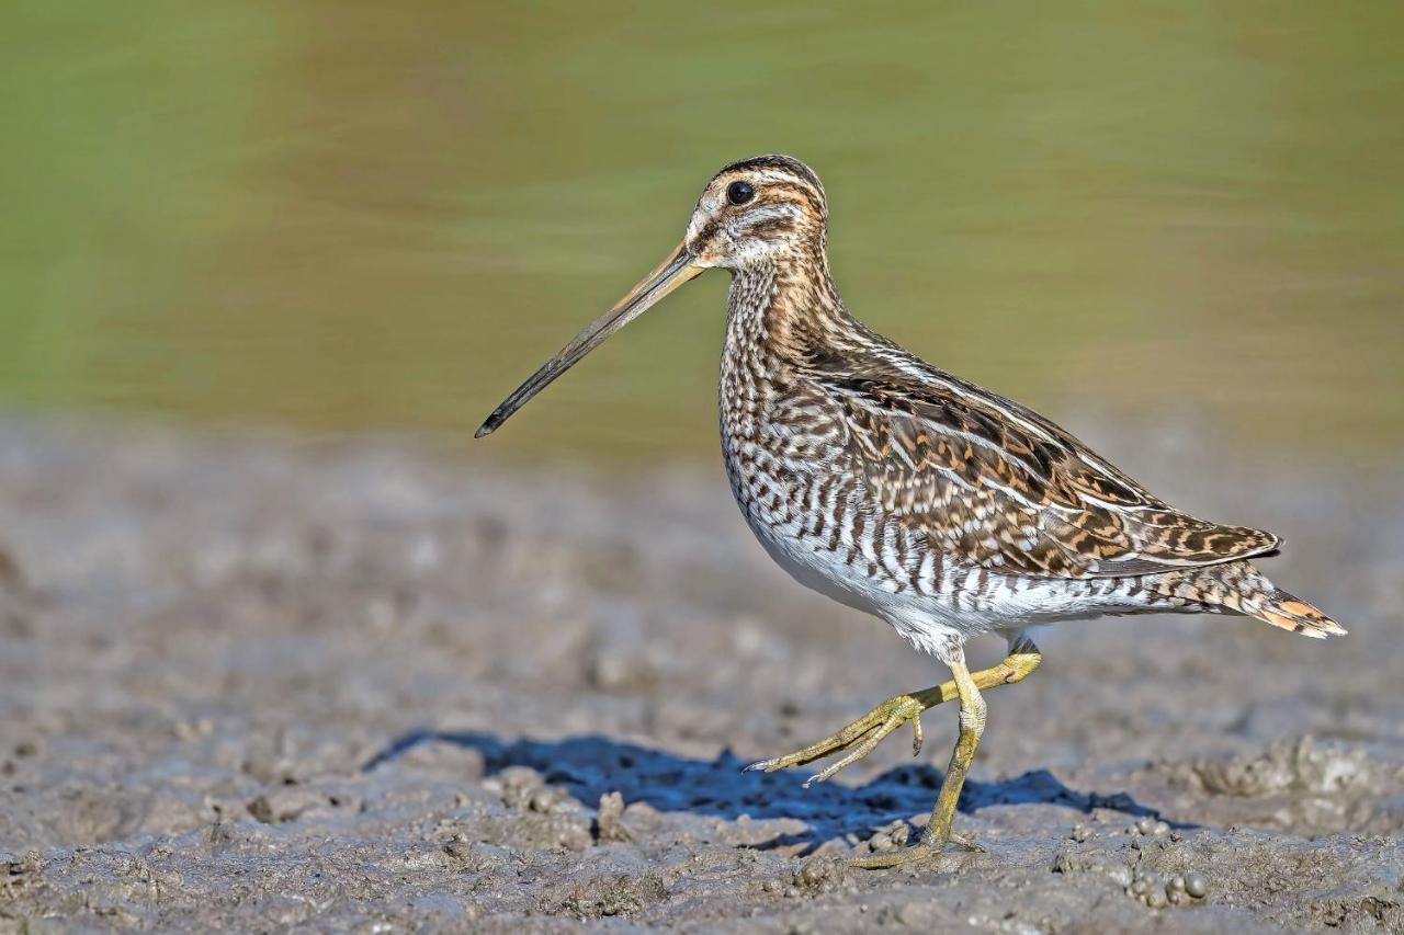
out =
[[[748,264],[727,295],[727,348],[800,362],[862,329],[848,314],[823,251]]]

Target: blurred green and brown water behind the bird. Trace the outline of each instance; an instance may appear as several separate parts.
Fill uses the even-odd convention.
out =
[[[11,3],[0,404],[466,437],[724,161],[849,306],[1078,427],[1404,439],[1404,6]],[[715,458],[724,274],[491,445]],[[484,442],[486,444],[486,442]]]

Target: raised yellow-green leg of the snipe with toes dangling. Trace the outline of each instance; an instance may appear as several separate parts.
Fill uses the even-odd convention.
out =
[[[1021,635],[1011,642],[1009,654],[1002,663],[979,672],[973,672],[970,678],[980,689],[994,688],[995,685],[1012,685],[1038,668],[1040,658],[1039,647],[1033,644],[1033,640]],[[934,685],[920,692],[893,695],[837,733],[785,757],[753,762],[746,769],[775,772],[776,769],[785,769],[788,767],[802,767],[821,757],[852,747],[848,755],[842,760],[830,764],[821,772],[806,779],[804,786],[807,788],[810,783],[824,782],[844,767],[858,762],[870,754],[873,748],[892,731],[897,730],[908,720],[911,722],[911,755],[915,757],[921,752],[921,713],[928,708],[934,708],[958,696],[959,691],[955,681],[942,682],[941,685]]]

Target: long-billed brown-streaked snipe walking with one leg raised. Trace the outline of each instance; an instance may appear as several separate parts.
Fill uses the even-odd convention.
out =
[[[856,861],[939,851],[984,730],[981,689],[1039,664],[1029,628],[1102,614],[1241,614],[1304,636],[1345,633],[1250,560],[1271,532],[1196,519],[1038,413],[908,354],[856,321],[828,272],[819,177],[786,156],[727,166],[687,236],[487,417],[477,437],[651,305],[712,267],[731,271],[722,354],[722,449],[765,550],[802,584],[889,622],[952,681],[894,695],[831,737],[750,769],[847,751],[828,779],[959,699],[960,733],[921,842]],[[1008,640],[972,672],[965,643]]]

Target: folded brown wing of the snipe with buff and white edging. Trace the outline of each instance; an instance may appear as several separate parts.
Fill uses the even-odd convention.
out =
[[[893,348],[894,351],[897,348]],[[883,510],[956,560],[1059,578],[1155,574],[1275,550],[1167,505],[1038,413],[913,359],[812,372]]]

